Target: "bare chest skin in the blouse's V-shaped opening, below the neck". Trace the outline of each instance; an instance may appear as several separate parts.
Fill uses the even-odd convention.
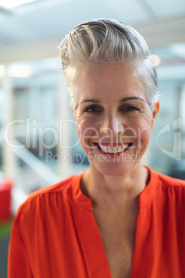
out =
[[[94,213],[112,278],[130,278],[137,217]]]

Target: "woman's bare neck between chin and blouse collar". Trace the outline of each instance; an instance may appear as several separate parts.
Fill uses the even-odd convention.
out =
[[[147,180],[148,170],[140,163],[123,176],[105,176],[90,166],[81,180],[81,191],[92,200],[93,205],[128,204],[137,201]]]

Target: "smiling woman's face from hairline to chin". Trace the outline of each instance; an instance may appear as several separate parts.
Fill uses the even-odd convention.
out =
[[[135,68],[90,66],[75,86],[77,134],[90,166],[104,175],[122,175],[141,160],[157,109],[150,109]]]

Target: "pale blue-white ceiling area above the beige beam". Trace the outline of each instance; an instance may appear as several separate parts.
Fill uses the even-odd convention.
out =
[[[114,18],[132,26],[139,25],[140,28],[148,23],[157,24],[157,21],[165,20],[168,25],[169,19],[185,17],[185,1],[37,0],[17,8],[1,8],[0,43],[1,46],[6,46],[23,41],[62,37],[82,21],[98,17]],[[185,26],[182,27],[185,30]],[[156,28],[155,33],[159,31]]]

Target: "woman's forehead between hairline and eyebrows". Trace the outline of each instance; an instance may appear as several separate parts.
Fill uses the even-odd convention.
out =
[[[82,71],[76,84],[78,98],[145,97],[145,86],[133,66],[108,64],[90,66]]]

